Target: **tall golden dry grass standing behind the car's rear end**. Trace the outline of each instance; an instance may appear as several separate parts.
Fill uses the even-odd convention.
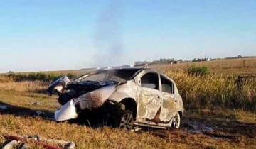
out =
[[[239,84],[237,77],[217,74],[196,77],[167,71],[166,75],[176,82],[188,109],[220,106],[256,111],[256,78],[243,79]]]

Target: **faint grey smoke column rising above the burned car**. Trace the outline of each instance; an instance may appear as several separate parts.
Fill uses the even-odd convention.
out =
[[[112,0],[100,13],[95,31],[95,66],[120,65],[123,51],[121,1]]]

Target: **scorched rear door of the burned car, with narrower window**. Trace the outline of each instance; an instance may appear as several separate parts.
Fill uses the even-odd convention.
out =
[[[162,75],[160,78],[162,104],[159,118],[161,122],[168,123],[174,116],[177,108],[177,100],[174,94],[174,83]]]

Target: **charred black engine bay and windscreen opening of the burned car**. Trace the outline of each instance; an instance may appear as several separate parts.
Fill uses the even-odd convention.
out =
[[[66,104],[70,99],[78,98],[82,94],[92,92],[112,84],[123,84],[141,69],[119,69],[119,70],[99,70],[90,75],[83,75],[70,82],[65,87],[63,94],[58,94],[58,102]]]

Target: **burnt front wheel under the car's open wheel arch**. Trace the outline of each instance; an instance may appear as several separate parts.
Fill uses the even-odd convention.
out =
[[[131,111],[122,112],[120,119],[119,128],[124,131],[129,131],[133,128],[134,117]]]

